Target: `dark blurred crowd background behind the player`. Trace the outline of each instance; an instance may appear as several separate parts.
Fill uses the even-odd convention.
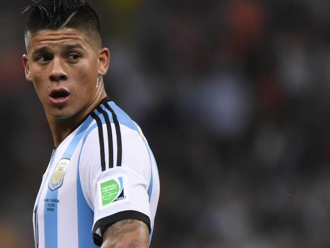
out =
[[[90,3],[108,95],[158,162],[151,247],[330,247],[330,2]],[[34,245],[53,148],[21,63],[28,4],[0,4],[2,248]]]

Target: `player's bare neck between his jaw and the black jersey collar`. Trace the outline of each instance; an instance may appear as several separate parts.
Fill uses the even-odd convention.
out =
[[[87,114],[91,112],[105,97],[107,97],[107,94],[105,90],[102,90],[99,94],[95,96],[92,101],[92,104],[90,104],[89,107],[78,112],[70,118],[56,119],[52,116],[47,116],[46,113],[55,147],[57,147],[72,131],[74,131],[74,129],[77,128],[83,118],[85,118]]]

